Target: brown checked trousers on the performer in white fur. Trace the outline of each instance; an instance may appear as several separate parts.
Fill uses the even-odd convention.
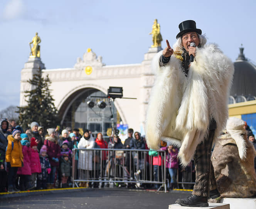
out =
[[[209,191],[217,188],[211,161],[212,141],[215,129],[209,130],[202,143],[197,145],[194,156],[195,185],[192,194],[209,197]]]

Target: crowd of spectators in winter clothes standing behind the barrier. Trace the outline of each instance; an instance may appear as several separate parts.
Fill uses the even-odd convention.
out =
[[[254,135],[246,125],[248,139],[256,147]],[[0,126],[0,192],[17,192],[32,189],[52,189],[56,187],[69,187],[72,185],[71,168],[75,163],[75,168],[80,172],[76,173],[77,179],[89,179],[91,176],[99,177],[108,176],[113,161],[109,161],[108,155],[111,152],[102,151],[94,156],[90,152],[83,149],[100,148],[100,149],[148,149],[145,136],[141,136],[139,132],[128,129],[128,138],[121,142],[117,135],[109,138],[103,138],[98,133],[96,139],[91,131],[85,129],[83,135],[79,133],[79,129],[71,129],[67,127],[61,132],[58,128],[48,128],[45,132],[42,126],[37,122],[32,122],[30,128],[23,130],[14,120],[8,121],[2,119]],[[45,134],[46,133],[46,134]],[[76,154],[72,154],[74,148],[81,149]],[[194,182],[195,171],[193,161],[186,168],[179,165],[178,153],[179,149],[171,144],[161,142],[160,151],[165,151],[166,158],[156,150],[147,152],[147,163],[153,166],[153,181],[162,181],[163,167],[167,171],[167,179],[169,189],[183,188],[192,189],[193,184],[180,184],[177,182]],[[132,168],[132,172],[141,175],[143,169],[143,156],[141,153],[125,151],[126,157],[123,166],[126,170]],[[116,151],[118,154],[118,151]],[[113,154],[113,153],[112,153]],[[135,156],[137,154],[137,156]],[[74,158],[74,160],[72,160]],[[151,162],[150,162],[151,159]],[[102,163],[99,163],[101,160]],[[93,162],[97,162],[98,168],[96,173],[93,169]],[[117,163],[117,162],[115,162]],[[131,165],[130,165],[131,164]],[[133,169],[136,165],[136,169]],[[101,168],[100,168],[101,167]],[[147,166],[144,167],[144,169]],[[256,166],[255,166],[256,168]],[[177,179],[177,172],[179,175]],[[127,175],[128,177],[128,175]],[[98,182],[81,181],[79,186],[99,187]],[[105,184],[106,186],[107,184]],[[143,184],[142,184],[143,185]],[[146,184],[147,187],[158,189],[160,184]],[[127,184],[128,187],[134,187],[135,184]]]

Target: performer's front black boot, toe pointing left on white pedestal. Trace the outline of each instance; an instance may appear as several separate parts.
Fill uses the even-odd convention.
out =
[[[190,197],[184,199],[177,199],[177,204],[181,206],[190,206],[190,207],[208,207],[207,197],[197,196],[192,194]]]

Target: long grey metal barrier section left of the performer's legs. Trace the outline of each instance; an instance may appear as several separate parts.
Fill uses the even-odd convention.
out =
[[[152,184],[167,191],[165,151],[141,149],[73,149],[74,186],[113,187]],[[88,185],[89,184],[89,185]]]

